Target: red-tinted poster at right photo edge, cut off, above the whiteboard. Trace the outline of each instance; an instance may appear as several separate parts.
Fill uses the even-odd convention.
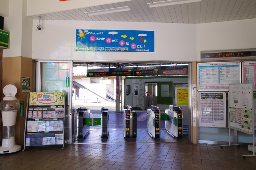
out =
[[[256,61],[243,61],[242,82],[252,83],[253,90],[256,91]]]

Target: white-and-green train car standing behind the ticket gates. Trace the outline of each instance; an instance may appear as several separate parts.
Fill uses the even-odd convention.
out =
[[[147,110],[151,105],[165,111],[169,105],[182,107],[183,132],[188,133],[188,76],[126,77],[124,79],[124,106]]]

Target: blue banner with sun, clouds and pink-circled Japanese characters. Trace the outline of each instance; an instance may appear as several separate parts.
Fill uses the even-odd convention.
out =
[[[76,51],[155,52],[155,32],[76,29]]]

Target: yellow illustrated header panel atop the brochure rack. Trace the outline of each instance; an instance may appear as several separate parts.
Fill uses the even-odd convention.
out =
[[[28,105],[64,105],[65,93],[30,92]]]

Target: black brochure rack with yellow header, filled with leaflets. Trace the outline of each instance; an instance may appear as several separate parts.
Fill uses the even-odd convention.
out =
[[[64,149],[65,94],[30,92],[26,110],[24,149],[62,146]]]

